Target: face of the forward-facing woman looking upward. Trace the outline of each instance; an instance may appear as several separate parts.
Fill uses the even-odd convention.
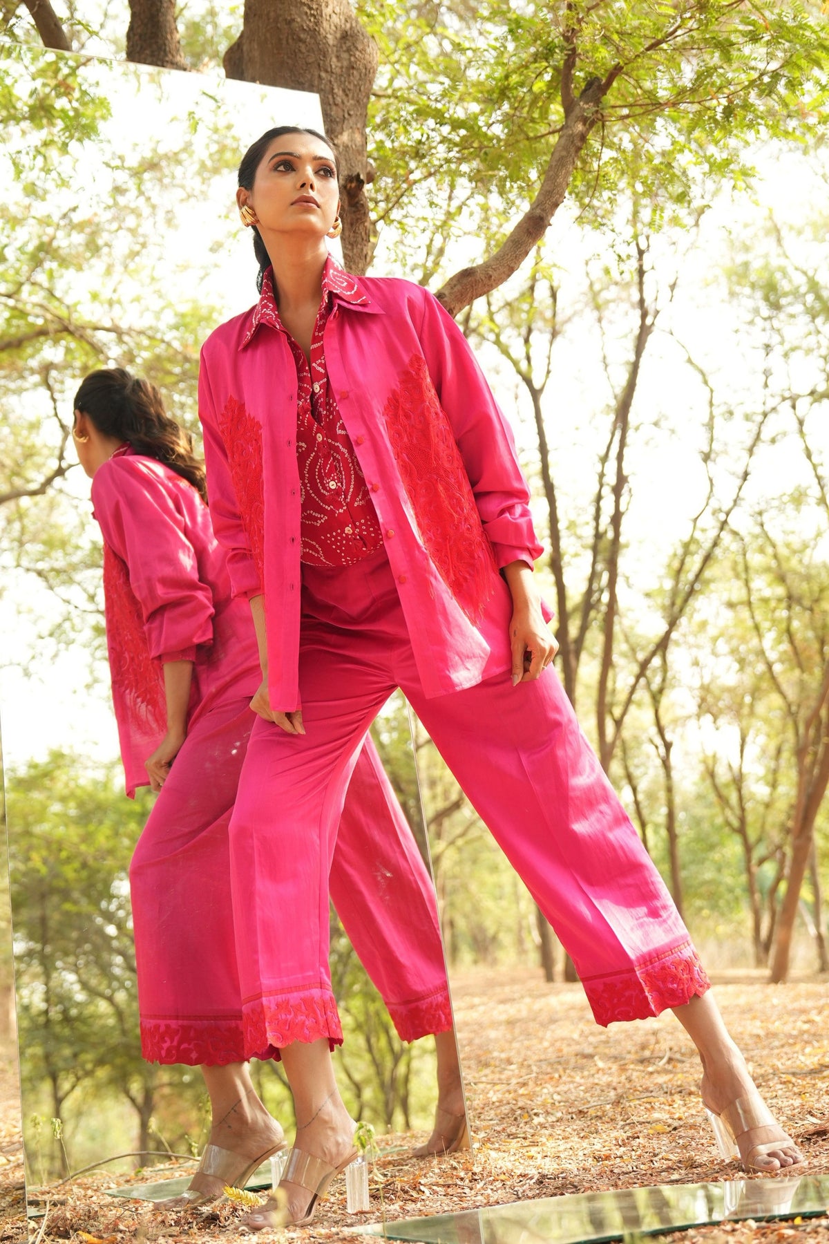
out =
[[[339,210],[337,167],[329,147],[313,134],[281,134],[256,170],[254,189],[236,202],[251,207],[260,233],[300,233],[322,238]]]

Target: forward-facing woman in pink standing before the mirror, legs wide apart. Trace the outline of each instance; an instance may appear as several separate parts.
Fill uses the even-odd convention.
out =
[[[597,1020],[671,1008],[700,1051],[723,1143],[736,1138],[751,1169],[800,1161],[547,668],[556,646],[527,486],[461,331],[425,289],[350,276],[328,255],[341,202],[323,134],[263,134],[240,165],[237,204],[261,296],[206,341],[200,417],[214,526],[267,656],[231,873],[249,899],[236,929],[246,1031],[255,1040],[265,1025],[282,1044],[305,1125],[283,1178],[290,1217],[308,1222],[353,1154],[311,949],[318,939],[323,955],[327,937],[316,878],[360,740],[395,687],[568,949]],[[292,873],[255,868],[265,856],[293,861]],[[301,967],[267,922],[275,888],[302,931]],[[276,1220],[271,1204],[247,1223]]]

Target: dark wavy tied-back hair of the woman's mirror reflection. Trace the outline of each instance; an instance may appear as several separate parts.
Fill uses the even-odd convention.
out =
[[[154,384],[123,367],[89,372],[75,394],[75,409],[92,419],[104,437],[128,440],[137,453],[164,463],[208,500],[204,465],[193,454],[193,438],[167,413]]]

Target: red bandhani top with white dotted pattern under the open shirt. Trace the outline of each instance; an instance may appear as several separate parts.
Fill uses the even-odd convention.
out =
[[[302,561],[311,566],[350,566],[383,544],[380,526],[354,448],[328,384],[322,335],[332,294],[349,302],[365,295],[332,260],[322,274],[322,301],[311,335],[311,366],[285,328],[273,297],[272,269],[265,272],[260,317],[283,332],[297,368],[297,463],[302,489]]]

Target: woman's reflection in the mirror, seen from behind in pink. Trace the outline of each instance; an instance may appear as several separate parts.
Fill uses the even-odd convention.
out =
[[[227,825],[262,677],[256,633],[247,602],[231,595],[204,470],[158,389],[121,368],[91,373],[75,398],[73,434],[104,541],[127,792],[148,782],[159,791],[131,865],[142,1051],[204,1072],[213,1131],[181,1199],[198,1204],[226,1183],[244,1186],[285,1143],[246,1064],[280,1055],[263,1031],[254,1049],[242,1040],[227,880]],[[331,886],[401,1037],[439,1034],[441,1105],[461,1116],[434,889],[370,743],[346,802]],[[291,913],[268,917],[283,924]],[[327,964],[321,985],[331,985]],[[332,1028],[332,1041],[341,1039]],[[444,1121],[431,1149],[460,1141],[457,1132]]]

